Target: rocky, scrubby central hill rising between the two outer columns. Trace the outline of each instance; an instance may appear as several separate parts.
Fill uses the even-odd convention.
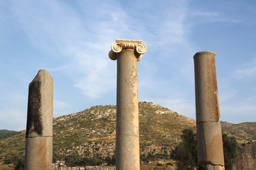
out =
[[[115,148],[116,106],[93,106],[53,120],[53,148],[59,155],[112,157]],[[195,120],[155,103],[139,103],[142,154],[165,153],[181,140],[183,128],[194,128]]]

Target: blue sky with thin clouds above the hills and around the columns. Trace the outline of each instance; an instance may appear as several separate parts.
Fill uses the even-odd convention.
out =
[[[256,120],[256,1],[0,1],[0,129],[26,129],[28,84],[54,79],[54,117],[116,103],[116,39],[142,40],[139,101],[195,119],[193,55],[216,53],[220,120]]]

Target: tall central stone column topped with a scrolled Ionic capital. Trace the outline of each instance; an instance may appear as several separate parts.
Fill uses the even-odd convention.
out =
[[[117,170],[139,170],[139,101],[137,61],[141,40],[116,40],[109,57],[117,60]]]

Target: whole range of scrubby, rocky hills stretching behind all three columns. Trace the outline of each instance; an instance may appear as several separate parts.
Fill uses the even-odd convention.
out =
[[[223,130],[240,142],[255,140],[255,123],[222,122]],[[92,106],[85,111],[53,118],[53,159],[68,155],[112,157],[115,149],[116,106]],[[139,103],[140,151],[142,160],[169,159],[181,141],[184,128],[196,130],[196,121],[152,102]],[[25,135],[0,140],[0,163],[24,155]]]

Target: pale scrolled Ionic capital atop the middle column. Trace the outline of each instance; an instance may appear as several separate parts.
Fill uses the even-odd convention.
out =
[[[125,49],[133,49],[137,52],[137,61],[142,59],[142,55],[146,52],[146,45],[142,43],[142,40],[121,40],[117,39],[111,45],[111,50],[109,52],[109,57],[111,60],[117,60],[118,52]]]

